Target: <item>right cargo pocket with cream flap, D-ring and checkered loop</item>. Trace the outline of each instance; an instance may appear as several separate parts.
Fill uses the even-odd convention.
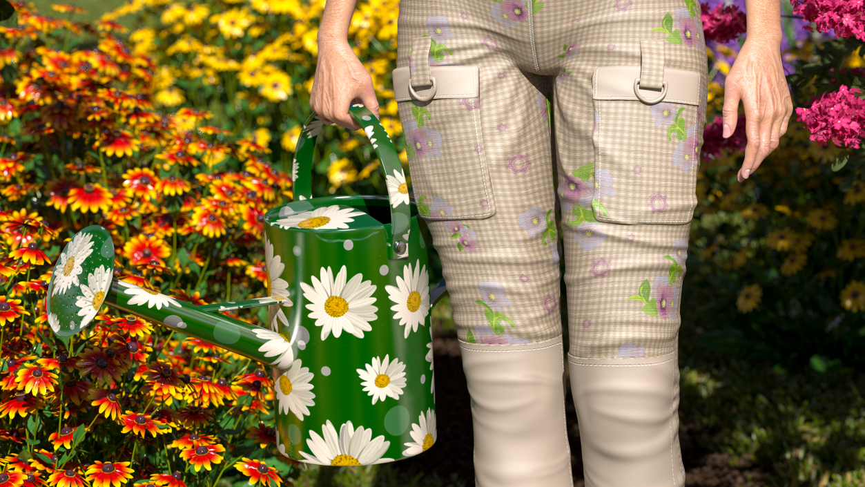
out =
[[[595,162],[574,176],[591,184],[597,221],[688,223],[702,142],[700,74],[664,68],[663,43],[641,49],[640,66],[595,70]]]

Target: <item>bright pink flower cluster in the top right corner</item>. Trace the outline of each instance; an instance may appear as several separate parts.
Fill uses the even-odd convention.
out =
[[[838,37],[865,41],[865,5],[862,0],[793,0],[793,14],[814,22],[818,32],[835,29]],[[814,27],[809,24],[804,29],[813,31]]]

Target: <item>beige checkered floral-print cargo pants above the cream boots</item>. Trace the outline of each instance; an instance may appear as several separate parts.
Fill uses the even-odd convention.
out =
[[[699,12],[685,0],[402,0],[398,66],[480,74],[477,98],[400,102],[460,340],[560,336],[563,257],[571,355],[676,351],[705,123]],[[617,65],[642,66],[644,87],[661,86],[663,67],[698,73],[700,101],[594,99],[595,70]]]

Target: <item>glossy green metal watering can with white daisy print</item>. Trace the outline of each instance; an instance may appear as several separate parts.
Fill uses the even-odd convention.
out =
[[[318,465],[413,457],[437,438],[426,242],[388,133],[363,106],[351,115],[372,142],[388,196],[312,198],[312,115],[292,170],[297,201],[265,216],[268,297],[195,306],[113,279],[105,228],[75,234],[48,285],[48,323],[72,336],[103,303],[273,367],[277,444]],[[266,327],[220,311],[269,306]]]

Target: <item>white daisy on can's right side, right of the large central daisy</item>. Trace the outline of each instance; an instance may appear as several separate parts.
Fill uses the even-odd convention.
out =
[[[393,301],[390,307],[394,319],[399,318],[400,326],[405,326],[405,337],[418,330],[418,325],[426,324],[426,315],[430,312],[430,278],[426,266],[420,266],[420,260],[412,265],[402,267],[402,277],[396,276],[396,285],[386,285],[388,298]]]

